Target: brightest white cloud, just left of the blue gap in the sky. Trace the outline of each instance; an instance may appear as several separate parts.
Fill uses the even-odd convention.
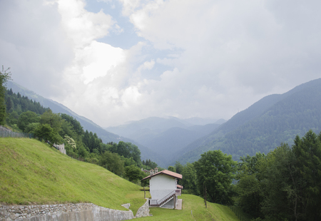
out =
[[[86,11],[85,5],[81,0],[58,1],[63,27],[73,42],[75,57],[65,74],[66,79],[74,86],[74,93],[78,93],[79,86],[84,87],[83,83],[88,84],[105,76],[110,68],[123,62],[125,58],[123,49],[96,41],[107,36],[110,31],[120,33],[121,27],[110,15],[104,14],[103,10],[95,14]],[[74,84],[73,76],[77,76],[79,85]]]

